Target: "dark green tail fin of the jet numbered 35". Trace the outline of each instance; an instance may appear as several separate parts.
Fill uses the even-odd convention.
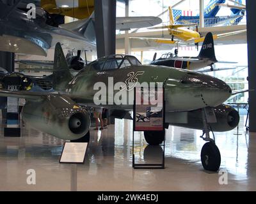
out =
[[[70,74],[68,64],[63,54],[60,43],[57,43],[55,46],[53,69],[53,88],[56,91],[64,91],[68,85],[68,82],[72,80],[72,75]],[[56,71],[58,69],[60,71]]]

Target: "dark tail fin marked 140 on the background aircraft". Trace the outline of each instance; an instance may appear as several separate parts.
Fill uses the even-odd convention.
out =
[[[213,62],[217,62],[215,57],[212,33],[206,34],[198,58],[210,59]]]

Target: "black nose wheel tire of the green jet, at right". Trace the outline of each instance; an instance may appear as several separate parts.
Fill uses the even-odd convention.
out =
[[[201,150],[201,161],[205,170],[218,171],[221,163],[220,150],[214,142],[207,142]]]

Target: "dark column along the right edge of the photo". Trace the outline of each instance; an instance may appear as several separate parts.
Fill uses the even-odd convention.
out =
[[[248,46],[248,82],[249,89],[256,90],[256,1],[246,0],[247,46]],[[249,92],[249,131],[256,132],[256,91]]]

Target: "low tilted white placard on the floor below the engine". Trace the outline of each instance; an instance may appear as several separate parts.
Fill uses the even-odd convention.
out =
[[[60,163],[84,163],[87,142],[66,142],[60,157]]]

